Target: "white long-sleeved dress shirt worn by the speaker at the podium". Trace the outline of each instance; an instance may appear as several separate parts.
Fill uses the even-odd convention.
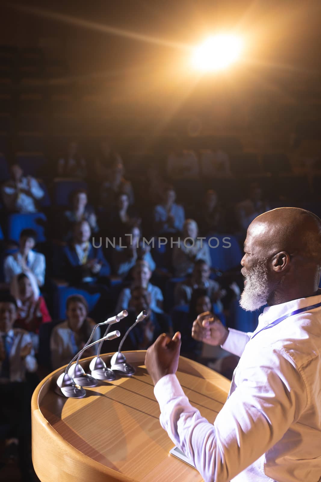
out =
[[[222,348],[241,358],[214,425],[189,403],[176,375],[155,385],[162,427],[205,482],[321,480],[321,307],[258,333],[320,302],[321,290],[265,308],[254,334],[230,330]]]

